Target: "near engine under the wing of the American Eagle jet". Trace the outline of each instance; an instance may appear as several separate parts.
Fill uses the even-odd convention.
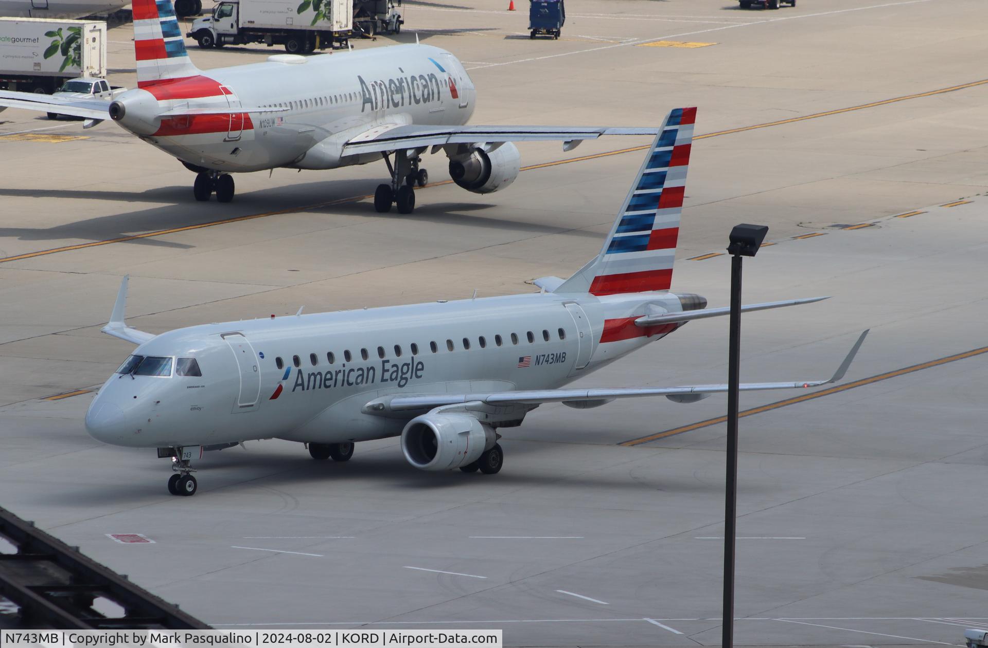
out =
[[[469,414],[428,413],[416,416],[401,432],[401,451],[421,470],[452,470],[480,459],[494,429]]]

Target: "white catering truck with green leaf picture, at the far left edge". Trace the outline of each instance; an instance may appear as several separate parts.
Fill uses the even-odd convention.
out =
[[[50,95],[69,79],[107,76],[107,24],[0,18],[0,89]]]

